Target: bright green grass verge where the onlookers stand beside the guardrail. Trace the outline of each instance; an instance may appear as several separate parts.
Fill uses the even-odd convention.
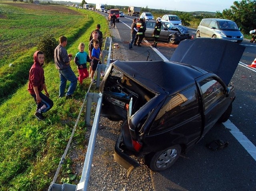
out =
[[[88,11],[88,18],[82,21],[80,18],[82,22],[80,28],[58,33],[59,36],[67,36],[68,53],[75,55],[80,42],[84,42],[88,47],[90,33],[98,23],[102,26],[101,31],[104,37],[109,34],[108,25],[103,16]],[[26,68],[19,68],[22,70],[22,75],[28,74],[35,50],[36,48],[33,47],[24,53],[24,57],[19,58],[23,61],[23,65],[27,65]],[[85,50],[87,52],[88,48]],[[71,66],[78,74],[73,61]],[[90,79],[86,79],[82,86],[78,85],[74,99],[58,98],[59,76],[54,62],[45,64],[44,72],[50,98],[54,101],[52,109],[45,114],[46,120],[38,121],[34,117],[36,104],[27,92],[27,83],[20,84],[20,88],[14,94],[10,94],[10,99],[6,99],[0,105],[0,190],[40,191],[48,189],[72,133],[84,96],[88,91]],[[19,78],[24,78],[24,82],[28,79],[27,76],[19,76]],[[92,88],[92,91],[97,92],[95,88]],[[73,139],[78,147],[85,145],[86,131],[83,112]],[[59,176],[61,177],[58,177],[58,181],[68,175],[61,173]]]

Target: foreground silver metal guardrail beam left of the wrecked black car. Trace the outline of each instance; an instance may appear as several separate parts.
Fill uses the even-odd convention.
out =
[[[99,127],[99,121],[100,121],[100,111],[101,111],[101,105],[102,105],[102,94],[96,94],[92,93],[92,97],[98,97],[98,104],[95,112],[95,117],[92,125],[92,131],[90,135],[90,140],[87,147],[86,156],[84,159],[84,167],[82,170],[82,175],[79,184],[77,185],[77,191],[87,191],[88,185],[89,185],[89,179],[90,179],[90,171],[92,167],[92,159],[94,154],[94,147],[96,143],[96,136],[97,131]]]

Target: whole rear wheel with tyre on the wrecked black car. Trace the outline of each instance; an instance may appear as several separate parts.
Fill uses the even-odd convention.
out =
[[[145,163],[152,171],[164,171],[177,161],[180,152],[180,145],[173,145],[162,151],[147,154],[145,156]]]

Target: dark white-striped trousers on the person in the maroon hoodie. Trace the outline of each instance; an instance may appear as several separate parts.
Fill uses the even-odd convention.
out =
[[[36,94],[30,95],[34,97],[34,100],[36,101]],[[36,113],[45,113],[46,111],[52,108],[53,102],[49,97],[44,95],[42,92],[39,92],[39,96],[41,97],[41,102],[36,103]]]

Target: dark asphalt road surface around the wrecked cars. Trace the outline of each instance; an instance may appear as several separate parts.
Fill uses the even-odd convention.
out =
[[[150,47],[152,40],[147,39],[142,47],[129,50],[131,24],[132,17],[127,15],[116,22],[129,61],[171,58],[177,45],[167,42],[158,43],[155,49]],[[190,32],[195,32],[195,29],[190,29]],[[231,80],[236,86],[236,100],[229,121],[216,124],[170,169],[152,172],[156,191],[256,191],[256,70],[246,67],[256,58],[256,44],[244,40],[241,45],[246,49]],[[228,147],[211,151],[206,144],[215,139],[228,141]]]

